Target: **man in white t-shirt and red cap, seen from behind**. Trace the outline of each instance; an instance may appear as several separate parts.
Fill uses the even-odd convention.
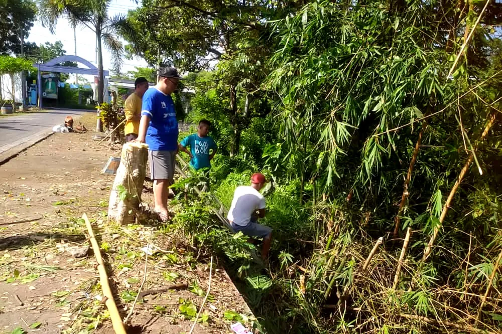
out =
[[[272,243],[272,229],[258,224],[258,218],[265,217],[265,197],[260,190],[265,186],[265,176],[255,173],[250,186],[239,186],[233,193],[232,205],[228,211],[228,221],[235,232],[249,237],[263,238],[262,258],[265,260]]]

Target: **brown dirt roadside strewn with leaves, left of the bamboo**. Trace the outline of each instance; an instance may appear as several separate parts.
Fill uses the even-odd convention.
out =
[[[82,120],[93,127],[92,115]],[[122,316],[130,311],[143,280],[141,248],[149,243],[161,251],[148,258],[143,290],[189,284],[185,290],[140,299],[131,332],[188,332],[208,287],[208,258],[202,255],[196,261],[200,254],[177,247],[176,238],[162,226],[117,226],[106,220],[113,177],[100,170],[109,156],[119,155],[119,147],[98,146],[91,136],[57,133],[0,166],[0,333],[22,333],[30,327],[44,333],[113,332],[100,301],[92,251],[79,258],[72,255],[89,246],[80,219],[84,212],[110,264],[110,285]],[[143,200],[151,202],[151,196],[147,191]],[[216,258],[212,280],[194,333],[227,333],[230,322],[252,320]]]

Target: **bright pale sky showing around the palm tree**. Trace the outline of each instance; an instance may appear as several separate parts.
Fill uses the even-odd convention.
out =
[[[138,5],[132,0],[111,0],[108,15],[110,17],[113,17],[117,14],[127,14],[129,10],[134,10],[137,7]],[[77,56],[82,57],[92,64],[96,65],[95,34],[89,28],[77,26],[76,40]],[[44,44],[45,42],[54,44],[56,41],[61,41],[61,43],[63,43],[64,50],[66,50],[67,55],[75,54],[73,29],[71,28],[67,19],[59,19],[54,34],[51,34],[48,28],[42,27],[42,23],[40,21],[36,21],[34,23],[34,26],[30,31],[30,36],[28,37],[28,42],[35,42],[37,45],[40,45]],[[111,64],[111,55],[103,45],[104,70],[111,71]],[[130,70],[134,70],[135,66],[146,67],[147,63],[141,58],[133,60],[124,59],[121,72],[124,73]],[[85,66],[79,64],[79,67]]]

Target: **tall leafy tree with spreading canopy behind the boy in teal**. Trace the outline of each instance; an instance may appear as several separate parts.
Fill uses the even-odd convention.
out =
[[[255,113],[253,103],[264,96],[258,87],[267,74],[263,59],[270,52],[265,25],[270,13],[282,5],[203,0],[144,0],[128,14],[133,30],[119,32],[131,55],[152,66],[174,65],[198,72],[218,61],[213,77],[225,96],[225,112],[233,127],[231,153],[239,149],[240,132]],[[143,39],[139,38],[144,37]],[[138,42],[135,42],[138,41]]]

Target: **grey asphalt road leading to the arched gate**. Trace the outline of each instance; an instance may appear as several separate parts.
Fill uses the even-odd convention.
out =
[[[63,124],[66,116],[78,116],[85,110],[48,110],[33,114],[0,117],[0,154],[18,145],[37,141]],[[90,111],[94,112],[94,111]]]

